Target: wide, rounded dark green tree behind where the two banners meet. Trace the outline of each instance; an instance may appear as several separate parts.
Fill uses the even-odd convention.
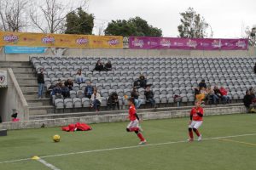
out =
[[[161,37],[162,31],[159,28],[148,25],[146,20],[143,20],[140,17],[135,17],[131,18],[130,20],[112,20],[110,23],[108,23],[105,34],[124,37]]]

